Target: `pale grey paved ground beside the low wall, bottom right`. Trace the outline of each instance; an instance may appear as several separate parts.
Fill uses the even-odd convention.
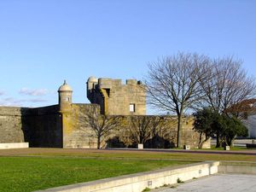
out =
[[[256,175],[217,174],[179,184],[175,189],[154,189],[152,192],[256,192]]]

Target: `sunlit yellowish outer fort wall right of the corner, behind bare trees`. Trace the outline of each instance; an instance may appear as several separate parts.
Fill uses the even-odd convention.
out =
[[[86,124],[85,116],[90,108],[98,108],[100,106],[96,104],[72,104],[72,111],[70,113],[63,113],[63,148],[96,148],[96,132],[92,130],[90,126]],[[99,114],[100,115],[100,114]],[[132,146],[133,141],[131,139],[131,131],[129,131],[129,125],[132,116],[119,115],[122,117],[122,125],[115,130],[110,131],[108,136],[102,139],[102,148],[108,147],[108,139],[118,137],[121,142],[125,142],[125,146]],[[160,116],[143,116],[138,115],[138,118],[148,117],[155,118]],[[190,145],[191,148],[198,146],[199,134],[192,130],[193,117],[183,118],[183,129],[181,131],[181,144]],[[174,146],[177,141],[177,117],[166,117],[167,129],[160,131],[159,137],[156,141],[169,142],[169,146]],[[146,147],[150,148],[155,143],[155,138],[149,137]],[[157,140],[159,139],[159,140]],[[153,144],[152,144],[153,143]],[[159,145],[163,146],[163,145]],[[168,145],[167,145],[168,146]],[[181,147],[182,147],[181,146]],[[210,143],[206,143],[205,147],[210,147]]]

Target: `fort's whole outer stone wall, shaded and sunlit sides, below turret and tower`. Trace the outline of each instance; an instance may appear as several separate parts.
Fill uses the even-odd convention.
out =
[[[59,113],[59,106],[45,108],[0,108],[0,143],[30,143],[30,147],[55,148],[96,148],[96,133],[86,124],[85,116],[90,108],[100,106],[96,104],[72,104],[72,111]],[[99,114],[100,115],[100,114]],[[102,148],[106,148],[106,141],[119,137],[127,144],[132,144],[129,125],[132,116],[120,115],[122,125],[110,131],[104,137]],[[160,116],[137,116],[139,118],[159,118]],[[177,118],[167,117],[167,131],[161,131],[160,137],[170,143],[176,143]],[[199,134],[192,130],[193,118],[183,118],[181,144],[189,144],[191,148],[197,146]],[[152,138],[149,138],[149,140]],[[130,141],[129,141],[130,140]],[[207,143],[209,145],[209,143]]]

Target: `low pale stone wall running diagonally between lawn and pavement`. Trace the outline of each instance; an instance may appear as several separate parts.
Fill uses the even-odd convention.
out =
[[[100,179],[78,183],[44,192],[141,192],[145,188],[154,189],[164,184],[177,183],[177,179],[187,181],[194,177],[204,177],[218,172],[218,161],[208,161],[187,166],[169,167],[152,172],[141,172],[121,177]],[[39,191],[38,191],[39,192]]]

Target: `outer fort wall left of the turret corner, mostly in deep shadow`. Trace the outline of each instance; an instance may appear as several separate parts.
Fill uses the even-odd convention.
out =
[[[59,106],[44,108],[0,107],[0,143],[30,147],[62,147]]]

